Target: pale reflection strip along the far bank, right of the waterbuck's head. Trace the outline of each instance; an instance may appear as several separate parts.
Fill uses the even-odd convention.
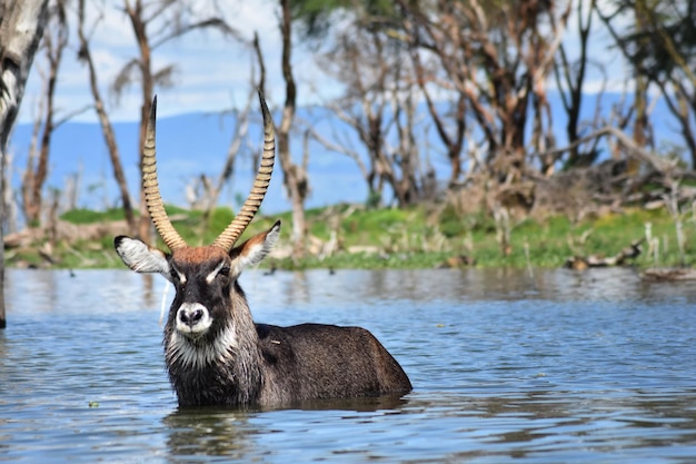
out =
[[[250,272],[242,285],[255,309],[259,306],[301,308],[330,302],[332,307],[384,305],[396,302],[446,303],[476,300],[550,299],[556,302],[662,300],[696,302],[690,282],[653,283],[630,268],[591,272],[535,269],[419,269],[419,270],[308,270],[297,273]]]

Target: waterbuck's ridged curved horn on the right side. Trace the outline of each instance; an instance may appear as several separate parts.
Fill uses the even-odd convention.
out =
[[[245,231],[251,219],[259,210],[261,201],[268,190],[270,184],[270,176],[274,171],[274,161],[276,158],[276,129],[274,128],[274,120],[266,106],[264,95],[259,90],[259,100],[261,102],[261,112],[264,113],[264,155],[259,164],[259,170],[256,174],[253,186],[247,197],[247,200],[242,205],[241,209],[230,223],[229,226],[215,239],[213,246],[220,247],[226,251],[229,251],[235,246],[235,243],[239,239]]]

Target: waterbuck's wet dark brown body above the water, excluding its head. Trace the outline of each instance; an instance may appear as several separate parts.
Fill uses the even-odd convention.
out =
[[[169,376],[180,406],[258,404],[304,399],[406,394],[411,384],[396,359],[368,330],[322,324],[290,327],[256,324],[245,353],[187,365],[165,340]],[[186,340],[183,343],[191,343]],[[189,346],[189,349],[196,349]],[[247,351],[248,349],[248,351]]]

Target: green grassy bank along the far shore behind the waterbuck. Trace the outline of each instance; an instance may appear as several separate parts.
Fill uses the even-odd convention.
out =
[[[200,211],[168,208],[172,221],[191,245],[208,244],[232,218],[227,208],[217,209],[202,220]],[[71,224],[96,224],[118,219],[120,211],[70,211],[61,218]],[[278,268],[430,268],[457,257],[475,261],[477,267],[559,267],[571,256],[614,256],[634,240],[646,237],[646,224],[658,244],[657,257],[648,256],[647,243],[634,261],[637,266],[677,266],[696,261],[694,218],[683,218],[684,254],[679,251],[675,220],[664,210],[624,210],[606,213],[578,223],[566,217],[544,221],[510,221],[509,241],[500,244],[499,227],[484,215],[456,216],[447,211],[431,214],[425,208],[370,210],[349,205],[307,211],[308,255],[294,260],[290,255],[291,218],[289,214],[260,216],[246,236],[284,221],[278,253],[266,266]],[[201,239],[202,237],[202,239]],[[242,237],[243,239],[243,237]],[[160,244],[161,246],[161,244]],[[121,267],[113,253],[112,236],[99,239],[58,240],[51,247],[34,243],[9,249],[8,266],[56,268]],[[470,265],[470,264],[469,264]]]

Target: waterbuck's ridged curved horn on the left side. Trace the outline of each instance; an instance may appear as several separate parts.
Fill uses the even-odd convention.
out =
[[[142,146],[142,190],[145,191],[145,203],[152,218],[152,224],[162,240],[170,250],[183,248],[188,245],[177,233],[165,211],[165,204],[159,192],[157,180],[157,160],[155,159],[155,126],[157,118],[157,96],[152,99],[150,119],[145,132],[145,145]]]

